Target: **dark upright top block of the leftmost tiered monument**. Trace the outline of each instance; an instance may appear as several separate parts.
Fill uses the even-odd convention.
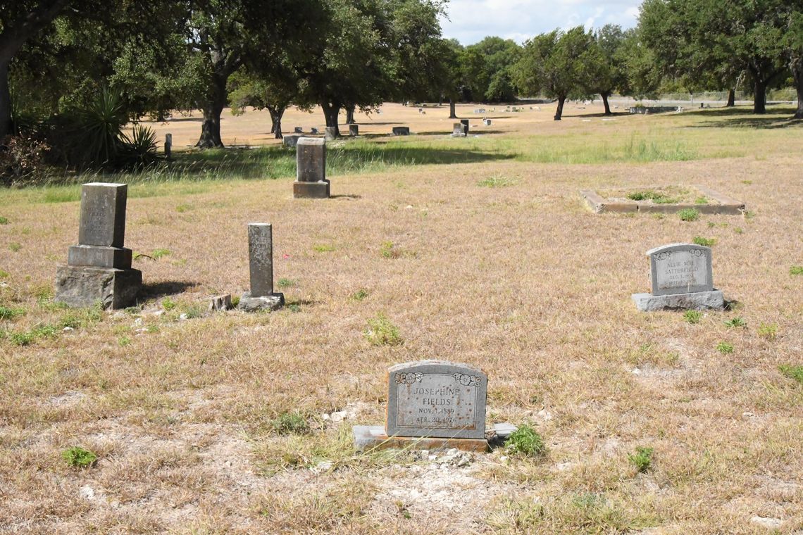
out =
[[[128,184],[90,182],[81,187],[80,245],[122,247]]]

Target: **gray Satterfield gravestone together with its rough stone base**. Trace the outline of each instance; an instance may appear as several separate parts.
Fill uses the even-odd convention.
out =
[[[646,252],[650,257],[651,294],[633,294],[638,310],[723,310],[721,291],[715,290],[711,248],[675,243]]]

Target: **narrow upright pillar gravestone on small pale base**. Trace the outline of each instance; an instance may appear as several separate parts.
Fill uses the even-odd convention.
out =
[[[243,294],[237,308],[246,312],[281,308],[284,294],[273,291],[273,230],[270,223],[248,224],[248,270],[251,291]]]

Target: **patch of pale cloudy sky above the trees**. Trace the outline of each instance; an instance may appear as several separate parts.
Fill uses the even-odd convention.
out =
[[[636,25],[641,0],[449,0],[442,18],[443,36],[463,45],[487,35],[522,43],[537,34],[583,25],[622,28]]]

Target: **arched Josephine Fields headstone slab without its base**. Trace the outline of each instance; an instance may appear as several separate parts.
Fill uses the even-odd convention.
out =
[[[487,375],[440,360],[388,371],[388,436],[485,438]]]

